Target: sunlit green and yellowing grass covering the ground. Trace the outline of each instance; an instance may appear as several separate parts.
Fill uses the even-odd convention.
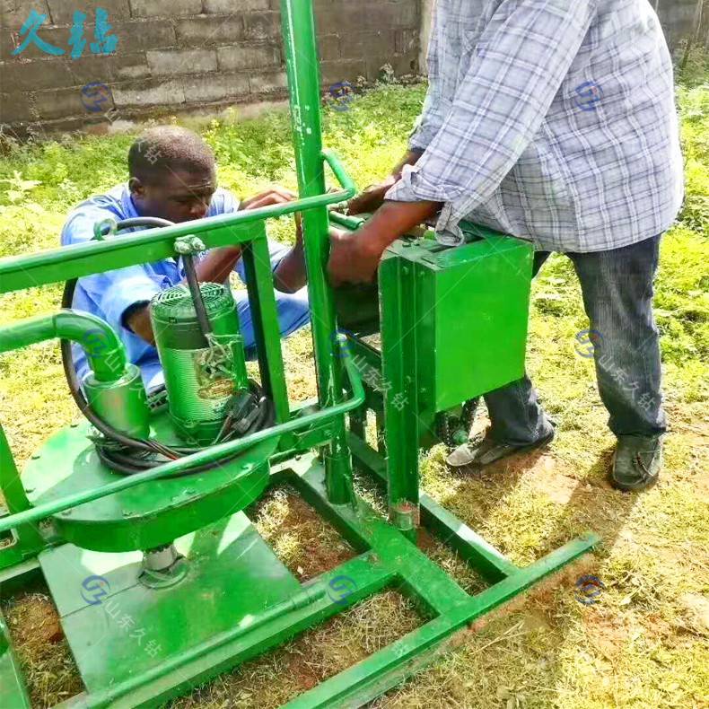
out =
[[[670,416],[666,469],[643,495],[605,481],[613,437],[595,389],[592,363],[574,352],[588,328],[573,268],[551,258],[533,288],[529,369],[559,435],[549,451],[480,476],[453,475],[441,448],[424,462],[426,490],[518,564],[527,564],[582,530],[604,544],[584,568],[605,583],[600,602],[574,599],[574,569],[532,591],[431,669],[390,692],[386,707],[706,707],[709,696],[709,84],[707,62],[679,78],[687,161],[687,200],[662,242],[656,284],[664,390]],[[381,178],[398,159],[425,87],[381,86],[346,112],[325,115],[325,142],[343,156],[359,185]],[[295,186],[288,119],[274,112],[240,121],[238,113],[199,130],[214,146],[224,187],[248,195],[270,182]],[[0,254],[57,245],[69,206],[125,179],[133,135],[71,136],[7,145],[0,158]],[[17,176],[15,176],[17,173]],[[289,240],[292,227],[272,227]],[[56,309],[58,286],[2,298],[0,322]],[[286,343],[294,399],[315,391],[307,332]],[[62,384],[57,346],[47,343],[0,359],[3,425],[19,462],[75,416]],[[483,425],[484,420],[478,421]],[[376,500],[371,489],[365,494]],[[286,493],[253,512],[261,533],[303,578],[346,557],[337,535]],[[317,553],[316,549],[327,549]],[[466,588],[477,579],[430,543],[431,556]],[[339,555],[339,556],[338,556]],[[345,556],[342,556],[345,555]],[[6,606],[11,626],[37,615],[46,597]],[[44,608],[43,607],[43,608]],[[175,703],[180,707],[267,707],[346,667],[416,625],[407,601],[386,594],[302,639]],[[13,625],[14,623],[14,625]],[[27,634],[25,634],[27,635]],[[41,635],[41,634],[39,634]],[[38,705],[74,691],[66,645],[47,652],[41,637],[21,639],[22,661]],[[54,662],[54,664],[52,664]]]

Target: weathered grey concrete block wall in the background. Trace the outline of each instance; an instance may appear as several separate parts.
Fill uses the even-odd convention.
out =
[[[314,0],[325,86],[389,63],[418,71],[420,0]],[[0,0],[0,123],[67,129],[111,119],[285,96],[279,0]],[[96,9],[109,13],[118,47],[92,54]],[[20,29],[34,10],[39,37],[64,49],[49,56]],[[86,14],[83,56],[69,57],[74,12]],[[84,105],[88,83],[109,86],[101,112]]]

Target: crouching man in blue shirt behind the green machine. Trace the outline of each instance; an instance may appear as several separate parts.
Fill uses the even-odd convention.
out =
[[[129,179],[104,195],[91,197],[69,214],[62,230],[62,245],[83,243],[93,237],[94,224],[153,216],[183,223],[216,214],[283,204],[295,198],[284,188],[271,188],[240,202],[216,187],[214,153],[197,134],[176,126],[155,127],[136,140],[128,153]],[[276,286],[276,307],[281,335],[290,335],[310,321],[308,294],[304,287],[305,262],[302,232],[296,219],[296,241],[288,248],[269,241]],[[127,232],[121,232],[123,234]],[[200,282],[223,283],[235,270],[246,281],[241,247],[226,246],[202,254],[197,261]],[[162,367],[154,347],[148,303],[155,293],[185,278],[181,263],[172,258],[119,268],[80,278],[72,307],[98,315],[116,330],[148,390],[162,384]],[[234,292],[241,334],[249,356],[255,355],[254,329],[245,290]],[[80,346],[73,346],[79,379],[89,371]]]

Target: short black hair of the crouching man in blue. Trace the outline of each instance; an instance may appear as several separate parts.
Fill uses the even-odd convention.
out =
[[[144,132],[128,151],[128,172],[141,182],[154,182],[169,171],[214,171],[214,153],[188,128],[157,126]]]

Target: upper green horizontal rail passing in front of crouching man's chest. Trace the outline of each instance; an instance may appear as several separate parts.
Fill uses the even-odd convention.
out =
[[[319,154],[320,168],[323,159]],[[345,175],[341,166],[337,168],[336,177],[339,175]],[[347,181],[351,183],[348,178]],[[322,187],[319,192],[311,190],[310,197],[284,205],[264,206],[236,214],[219,214],[161,229],[129,233],[106,241],[88,241],[48,249],[29,256],[0,258],[0,293],[10,293],[24,288],[67,281],[87,274],[111,271],[117,268],[116,255],[123,252],[130,253],[131,259],[127,263],[121,263],[120,267],[144,263],[146,260],[168,258],[174,255],[174,242],[180,236],[201,235],[207,249],[225,244],[244,243],[251,241],[250,234],[237,236],[229,229],[230,227],[260,222],[294,212],[308,213],[312,209],[337,205],[355,196],[355,188],[323,194],[324,183]],[[226,232],[226,237],[224,233],[220,235],[219,232]]]

